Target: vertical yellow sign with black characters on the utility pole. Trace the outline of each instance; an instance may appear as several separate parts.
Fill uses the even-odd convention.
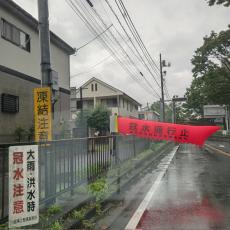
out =
[[[52,140],[51,123],[51,90],[46,88],[34,89],[34,122],[35,122],[35,141]]]

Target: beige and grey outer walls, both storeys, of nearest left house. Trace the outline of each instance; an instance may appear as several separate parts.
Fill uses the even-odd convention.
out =
[[[0,23],[0,65],[22,73],[22,76],[23,74],[27,75],[27,79],[23,79],[17,74],[16,76],[14,73],[7,74],[0,71],[0,97],[2,93],[19,96],[18,113],[2,113],[0,110],[0,142],[9,142],[13,141],[12,135],[17,127],[28,130],[34,125],[33,88],[40,86],[41,53],[38,31],[31,29],[2,8],[0,8],[0,20],[1,18],[30,36],[30,52],[28,52],[1,37],[2,25]],[[52,43],[50,49],[51,67],[58,72],[59,87],[62,88],[54,106],[53,117],[54,134],[58,134],[63,122],[70,120],[70,95],[68,94],[68,90],[70,90],[70,59],[64,50]]]

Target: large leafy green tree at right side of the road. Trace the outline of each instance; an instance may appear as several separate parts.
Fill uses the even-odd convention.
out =
[[[187,108],[203,114],[205,104],[230,103],[230,28],[214,31],[191,60],[193,81],[186,91]]]

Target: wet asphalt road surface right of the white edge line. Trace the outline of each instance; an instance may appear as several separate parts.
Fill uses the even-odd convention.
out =
[[[230,157],[183,145],[139,229],[230,229]]]

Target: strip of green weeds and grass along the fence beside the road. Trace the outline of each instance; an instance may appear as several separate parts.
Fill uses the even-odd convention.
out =
[[[165,146],[169,145],[163,141],[153,142],[146,151],[120,162],[89,183],[76,187],[75,195],[85,195],[86,200],[68,212],[59,204],[51,205],[40,215],[39,227],[49,230],[63,230],[73,226],[77,226],[77,229],[94,229],[96,221],[118,205],[111,201],[111,197],[131,180],[142,175],[143,170],[166,148]]]

